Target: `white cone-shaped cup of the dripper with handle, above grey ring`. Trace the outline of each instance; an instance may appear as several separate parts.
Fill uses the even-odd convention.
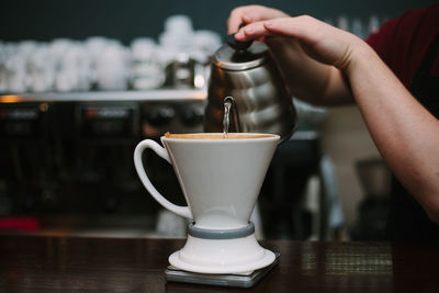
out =
[[[226,139],[223,134],[176,136],[162,136],[165,147],[151,139],[137,145],[134,164],[145,188],[164,207],[192,218],[199,228],[247,226],[280,137],[249,133],[230,134],[235,138]],[[172,204],[154,188],[142,160],[146,148],[172,165],[189,206]]]

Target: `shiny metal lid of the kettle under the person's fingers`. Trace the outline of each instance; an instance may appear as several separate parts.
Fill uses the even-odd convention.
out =
[[[215,66],[228,70],[247,70],[266,63],[269,48],[262,42],[254,42],[249,47],[237,48],[224,44],[214,55]]]

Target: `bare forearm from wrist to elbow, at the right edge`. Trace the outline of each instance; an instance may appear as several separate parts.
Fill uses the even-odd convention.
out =
[[[439,121],[365,45],[352,53],[346,72],[381,155],[439,223]]]

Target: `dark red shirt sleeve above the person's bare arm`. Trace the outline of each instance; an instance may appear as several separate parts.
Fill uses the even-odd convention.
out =
[[[431,43],[439,37],[439,4],[407,11],[385,22],[367,42],[407,89]],[[431,68],[439,76],[439,55]]]

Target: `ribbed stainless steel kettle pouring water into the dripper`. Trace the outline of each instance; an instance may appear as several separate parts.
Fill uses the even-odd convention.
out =
[[[255,42],[246,52],[221,47],[211,69],[205,132],[223,132],[224,99],[233,97],[229,132],[279,134],[288,139],[296,126],[292,95],[268,47]],[[235,111],[235,113],[234,113]]]

